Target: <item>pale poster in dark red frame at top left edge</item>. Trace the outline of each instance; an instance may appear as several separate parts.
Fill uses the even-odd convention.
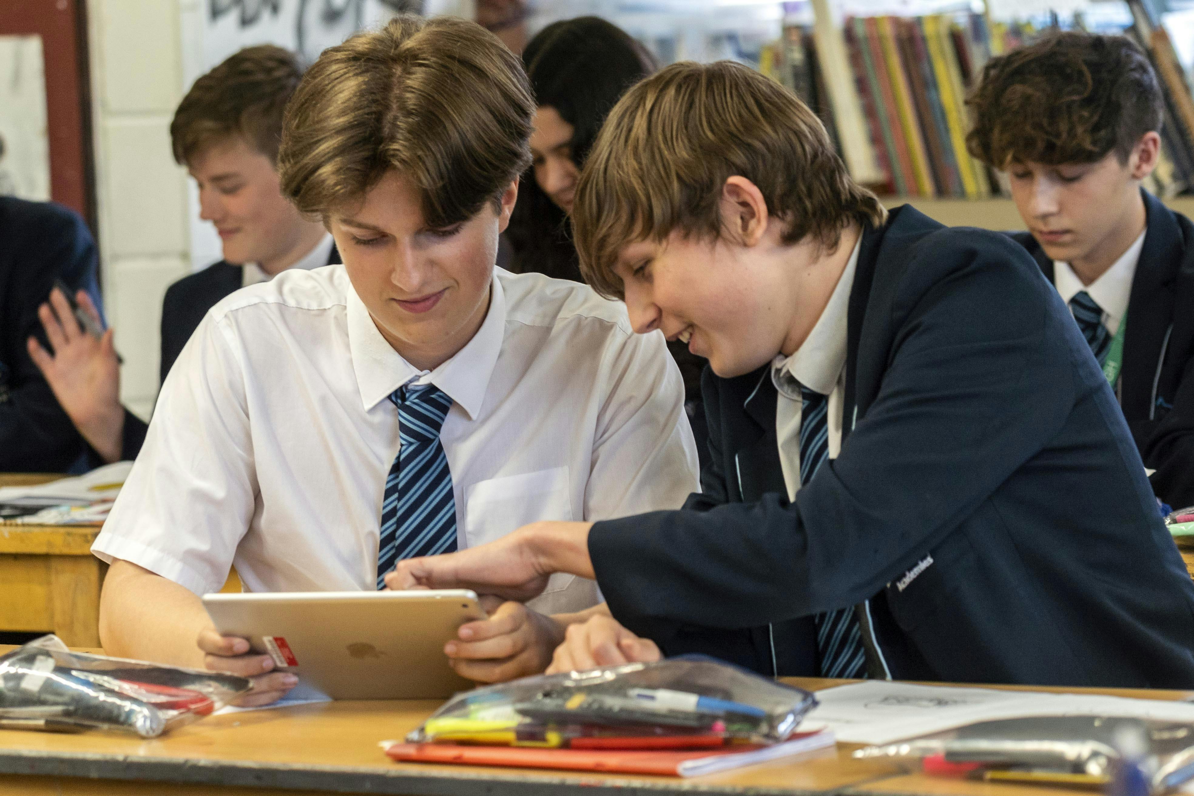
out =
[[[0,196],[50,198],[41,36],[0,36]]]

